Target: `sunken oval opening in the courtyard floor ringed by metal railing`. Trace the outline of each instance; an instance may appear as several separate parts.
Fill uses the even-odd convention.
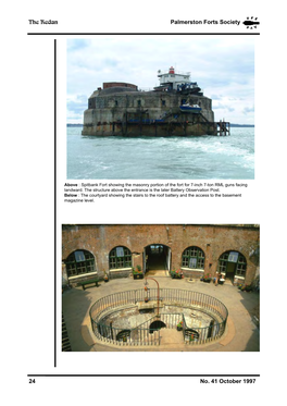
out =
[[[96,339],[115,345],[161,345],[162,329],[185,344],[209,343],[223,335],[227,317],[215,297],[171,288],[114,293],[90,308]]]

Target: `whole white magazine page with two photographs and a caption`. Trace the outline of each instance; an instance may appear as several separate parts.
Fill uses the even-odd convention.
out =
[[[29,403],[280,394],[286,63],[266,8],[28,2],[20,21],[10,344],[24,332]]]

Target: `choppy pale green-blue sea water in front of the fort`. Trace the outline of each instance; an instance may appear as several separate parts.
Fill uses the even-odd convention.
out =
[[[230,136],[91,137],[67,127],[68,180],[252,180],[254,128]]]

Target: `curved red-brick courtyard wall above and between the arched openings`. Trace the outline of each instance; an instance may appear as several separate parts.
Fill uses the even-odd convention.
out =
[[[133,254],[133,267],[142,267],[144,248],[161,244],[171,248],[171,269],[179,269],[183,251],[189,246],[197,246],[205,255],[204,273],[215,275],[220,256],[226,250],[235,250],[247,260],[246,283],[249,284],[258,268],[258,258],[250,257],[250,251],[259,247],[259,227],[246,225],[63,225],[62,259],[65,260],[76,249],[86,249],[93,254],[96,269],[101,275],[103,271],[109,271],[112,248],[127,247]],[[127,274],[127,271],[117,273],[118,276]],[[191,274],[187,272],[186,275]]]

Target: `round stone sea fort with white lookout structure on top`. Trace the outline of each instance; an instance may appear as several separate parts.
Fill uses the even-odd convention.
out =
[[[190,72],[158,71],[160,85],[105,82],[88,99],[82,135],[88,136],[194,136],[229,135],[229,123],[214,122],[212,100]]]

